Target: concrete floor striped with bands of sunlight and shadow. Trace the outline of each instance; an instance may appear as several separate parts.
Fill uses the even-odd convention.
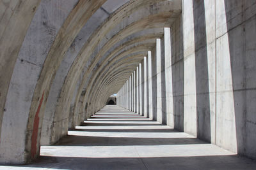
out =
[[[256,162],[136,113],[106,106],[36,162],[0,169],[256,169]]]

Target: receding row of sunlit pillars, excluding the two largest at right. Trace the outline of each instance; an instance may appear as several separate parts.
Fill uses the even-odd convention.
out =
[[[117,105],[173,127],[172,59],[170,28],[156,39],[123,87],[116,94]],[[168,120],[168,121],[167,121]]]

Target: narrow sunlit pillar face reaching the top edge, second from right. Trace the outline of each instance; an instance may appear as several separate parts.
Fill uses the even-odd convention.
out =
[[[184,132],[197,136],[193,1],[184,6]],[[192,16],[192,17],[191,17]],[[191,31],[192,30],[192,31]],[[185,41],[186,38],[186,41]],[[188,50],[186,50],[188,49]]]

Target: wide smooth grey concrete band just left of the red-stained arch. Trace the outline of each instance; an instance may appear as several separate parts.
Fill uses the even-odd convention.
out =
[[[31,21],[6,97],[0,145],[0,153],[4,153],[1,159],[4,158],[6,162],[26,160],[28,153],[24,132],[27,129],[33,90],[49,48],[76,2],[65,1],[62,8],[55,8],[61,5],[60,1],[42,1]]]

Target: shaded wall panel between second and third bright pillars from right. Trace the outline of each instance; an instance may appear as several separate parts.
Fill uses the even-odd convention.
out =
[[[183,55],[183,27],[182,15],[180,15],[175,24],[170,28],[171,34],[171,56],[166,59],[169,61],[168,67],[168,112],[172,115],[173,121],[168,120],[168,124],[179,131],[184,131],[184,55]],[[172,89],[171,89],[172,88]],[[173,103],[173,104],[172,104]],[[172,108],[173,106],[173,108]]]

